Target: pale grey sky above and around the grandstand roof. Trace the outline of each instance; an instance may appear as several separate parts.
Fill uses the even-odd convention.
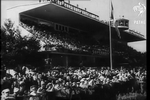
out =
[[[65,1],[68,2],[68,0]],[[118,19],[124,16],[124,18],[129,19],[129,28],[140,32],[146,38],[146,11],[138,16],[139,11],[133,10],[133,8],[139,6],[139,3],[146,7],[146,0],[70,0],[70,3],[73,5],[78,4],[80,8],[86,8],[87,11],[99,15],[100,20],[108,21],[110,1],[112,1],[114,8],[114,18]],[[38,3],[38,0],[1,0],[1,23],[7,17],[7,9],[31,3]],[[146,52],[146,41],[132,42],[128,45],[137,51]]]

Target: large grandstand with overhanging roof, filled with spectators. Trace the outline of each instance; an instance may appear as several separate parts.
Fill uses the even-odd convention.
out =
[[[39,53],[50,57],[52,65],[109,66],[109,25],[98,15],[58,0],[13,9],[23,9],[17,13],[19,25],[44,43]],[[113,25],[111,30],[116,59],[136,52],[127,46],[128,42],[145,40],[131,29],[120,30],[121,39]]]

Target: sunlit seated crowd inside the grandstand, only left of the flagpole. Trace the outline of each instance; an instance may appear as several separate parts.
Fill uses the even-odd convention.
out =
[[[76,52],[82,54],[102,54],[109,53],[109,46],[97,43],[91,37],[85,38],[79,33],[65,33],[50,30],[50,27],[43,24],[37,24],[28,20],[23,20],[20,25],[27,31],[31,32],[38,39],[45,43],[45,46],[53,45],[53,51],[58,51],[61,47],[68,52]],[[87,34],[86,34],[87,35]],[[83,41],[84,40],[84,41]],[[90,41],[90,42],[89,42]],[[95,45],[93,45],[93,43]]]

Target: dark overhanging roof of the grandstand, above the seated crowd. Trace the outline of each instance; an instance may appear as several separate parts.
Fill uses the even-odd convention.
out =
[[[91,33],[91,35],[99,34],[99,36],[106,37],[109,35],[109,28],[107,23],[55,3],[48,3],[37,8],[23,11],[20,14],[88,31]],[[136,32],[131,33],[130,31],[128,32],[120,30],[120,33],[121,39],[118,38],[116,29],[112,27],[113,39],[124,42],[145,40],[144,37],[136,34]]]

